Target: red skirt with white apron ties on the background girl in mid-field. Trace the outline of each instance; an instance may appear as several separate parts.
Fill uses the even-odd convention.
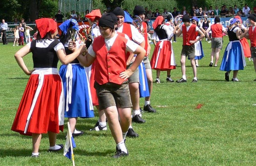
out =
[[[172,57],[172,44],[169,40],[159,41],[156,44],[150,64],[155,70],[165,71],[176,68],[174,56]]]

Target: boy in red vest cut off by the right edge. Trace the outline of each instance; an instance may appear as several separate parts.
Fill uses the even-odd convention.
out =
[[[254,64],[254,70],[256,72],[256,14],[250,14],[248,19],[252,26],[249,27],[249,36],[246,35],[245,37],[251,41],[251,56]],[[256,78],[253,81],[256,81]]]

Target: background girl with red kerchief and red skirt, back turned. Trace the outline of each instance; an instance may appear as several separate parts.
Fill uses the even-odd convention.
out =
[[[160,72],[167,71],[166,80],[173,82],[170,77],[171,69],[176,68],[175,57],[172,56],[172,44],[170,38],[173,36],[167,25],[164,25],[164,17],[158,16],[153,23],[154,34],[159,38],[159,42],[155,44],[155,49],[150,61],[152,69],[156,70],[156,83],[160,83]]]

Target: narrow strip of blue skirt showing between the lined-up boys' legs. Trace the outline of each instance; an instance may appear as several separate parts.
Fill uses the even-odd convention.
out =
[[[139,82],[140,97],[148,97],[150,96],[150,94],[148,89],[147,74],[146,74],[144,63],[141,62],[138,68],[139,68],[139,79],[140,79],[140,82]]]

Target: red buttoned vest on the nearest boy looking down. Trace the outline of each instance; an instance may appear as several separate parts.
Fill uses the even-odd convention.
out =
[[[108,82],[122,84],[124,79],[119,74],[126,69],[126,49],[127,39],[117,35],[111,49],[108,51],[104,38],[100,35],[93,41],[93,51],[96,55],[95,81],[102,85]]]

